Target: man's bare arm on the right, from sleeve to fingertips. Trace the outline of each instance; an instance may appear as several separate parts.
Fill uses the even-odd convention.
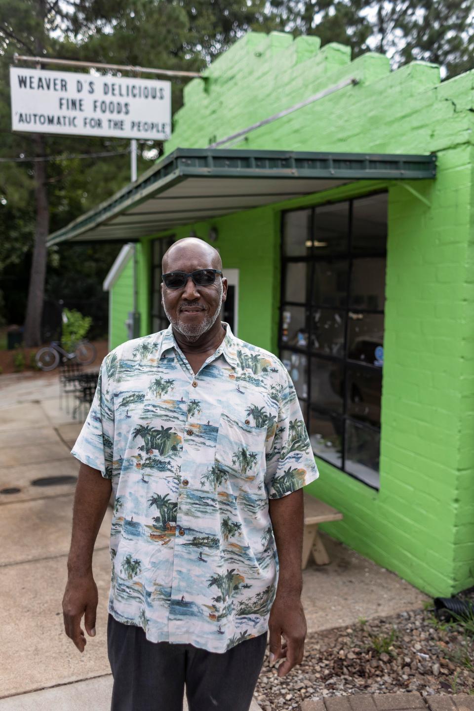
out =
[[[306,637],[306,619],[301,604],[303,489],[281,498],[270,498],[269,515],[279,559],[278,587],[269,617],[270,663],[286,657],[278,669],[278,675],[284,676],[303,661]],[[281,635],[286,646],[281,645]]]

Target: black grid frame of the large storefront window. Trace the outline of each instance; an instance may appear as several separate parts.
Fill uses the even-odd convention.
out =
[[[386,189],[382,191],[375,191],[373,193],[366,193],[364,195],[360,195],[357,197],[353,198],[341,198],[338,201],[328,201],[326,203],[318,203],[316,205],[304,205],[299,208],[293,208],[291,210],[283,210],[280,213],[280,264],[281,264],[281,284],[280,284],[280,306],[279,306],[279,332],[278,332],[278,348],[279,348],[279,358],[282,358],[282,351],[289,351],[291,353],[298,353],[300,355],[305,355],[307,359],[307,373],[306,373],[306,385],[307,385],[307,397],[306,397],[306,403],[303,411],[303,417],[306,422],[306,428],[308,429],[308,435],[311,437],[311,411],[317,412],[320,415],[323,416],[330,416],[330,417],[337,417],[340,419],[342,422],[342,440],[341,440],[341,466],[338,466],[335,464],[333,461],[330,461],[328,459],[325,459],[323,456],[320,454],[316,454],[319,459],[322,461],[327,462],[331,466],[333,466],[335,469],[338,469],[340,471],[343,471],[344,474],[347,474],[348,476],[351,476],[352,479],[355,479],[356,481],[360,481],[360,483],[365,484],[365,486],[369,486],[372,488],[374,491],[379,491],[379,486],[374,486],[372,483],[369,483],[367,481],[364,481],[363,479],[360,479],[357,477],[355,474],[353,474],[350,471],[346,471],[345,469],[345,445],[346,445],[346,424],[347,422],[353,422],[356,425],[362,425],[365,429],[372,430],[374,433],[377,433],[379,438],[381,434],[381,427],[377,427],[374,424],[371,424],[370,422],[361,422],[360,419],[357,419],[357,417],[351,417],[348,415],[348,370],[349,368],[361,368],[367,372],[367,369],[370,370],[375,370],[377,373],[381,373],[381,397],[382,397],[382,388],[383,388],[383,366],[379,365],[374,365],[372,363],[362,363],[357,360],[350,360],[348,358],[348,346],[349,346],[349,341],[348,341],[348,335],[349,335],[349,313],[354,312],[356,314],[382,314],[384,316],[385,309],[363,309],[359,308],[356,306],[350,306],[350,279],[352,276],[352,263],[355,259],[360,259],[360,258],[384,258],[387,260],[387,241],[385,242],[385,248],[384,250],[367,250],[361,251],[360,249],[353,250],[352,249],[352,214],[353,214],[353,206],[354,203],[357,202],[357,200],[364,200],[367,198],[375,197],[377,195],[386,195],[387,196],[387,203],[388,203],[388,196],[389,193]],[[312,254],[311,255],[293,255],[293,256],[287,256],[285,254],[285,242],[284,242],[284,217],[288,213],[292,212],[297,212],[298,210],[307,210],[311,209],[311,223],[310,223],[310,230],[311,232],[309,233],[310,235],[315,234],[315,214],[316,210],[318,208],[324,207],[325,205],[337,205],[338,203],[349,203],[349,215],[348,215],[348,249],[347,251],[342,251],[342,252],[337,252],[337,253],[323,253],[320,256],[317,256],[315,254],[314,247],[312,247]],[[313,237],[312,237],[313,238]],[[387,239],[388,239],[388,220],[387,220]],[[293,262],[293,263],[301,263],[301,262],[308,262],[311,265],[313,265],[315,262],[333,262],[333,261],[342,261],[342,260],[348,260],[348,274],[347,274],[347,281],[346,281],[346,290],[345,290],[345,305],[344,306],[328,306],[327,304],[313,304],[313,293],[314,293],[314,274],[315,274],[315,269],[313,266],[311,266],[311,273],[309,275],[310,279],[310,284],[309,284],[309,290],[306,288],[306,293],[309,293],[311,295],[311,299],[309,303],[306,301],[306,303],[301,303],[300,301],[285,301],[285,296],[286,296],[286,274],[287,274],[287,264]],[[385,279],[385,286],[387,284],[387,279]],[[306,309],[306,311],[309,311],[308,314],[308,338],[307,338],[307,344],[306,347],[302,346],[289,346],[288,343],[285,343],[282,341],[281,336],[282,336],[282,331],[283,331],[283,314],[285,309],[288,306],[300,306]],[[314,311],[318,309],[332,309],[333,311],[343,311],[345,313],[345,324],[344,324],[344,357],[339,358],[338,356],[334,355],[329,355],[327,353],[319,353],[317,351],[312,350],[312,331],[313,331],[313,313]],[[384,333],[385,333],[385,328],[384,328]],[[342,365],[343,367],[343,412],[335,412],[334,410],[330,410],[330,408],[325,408],[321,405],[315,405],[314,403],[311,403],[311,363],[313,358],[321,358],[321,360],[328,360],[331,363],[337,363],[338,365]],[[303,405],[303,400],[304,398],[298,397],[298,400],[300,401],[300,405]]]

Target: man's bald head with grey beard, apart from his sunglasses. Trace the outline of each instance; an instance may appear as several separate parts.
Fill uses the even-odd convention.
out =
[[[196,269],[220,269],[222,262],[214,247],[198,237],[178,240],[165,252],[163,274],[168,272],[194,272]],[[214,284],[199,287],[191,277],[181,289],[168,289],[161,284],[161,301],[171,325],[188,341],[197,341],[209,331],[219,315],[227,294],[227,279],[216,274]]]

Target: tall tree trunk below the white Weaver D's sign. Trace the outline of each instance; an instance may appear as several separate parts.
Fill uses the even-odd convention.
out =
[[[36,156],[44,156],[45,142],[43,136],[36,134],[34,140]],[[35,163],[35,198],[35,246],[33,248],[33,260],[31,262],[24,332],[24,342],[27,348],[41,345],[41,316],[43,315],[46,260],[48,258],[46,237],[48,237],[49,232],[49,204],[45,161],[36,161]]]

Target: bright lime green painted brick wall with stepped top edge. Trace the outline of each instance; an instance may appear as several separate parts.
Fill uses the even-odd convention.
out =
[[[440,83],[434,65],[390,72],[382,55],[318,38],[249,33],[185,87],[166,145],[205,147],[346,78],[346,87],[257,129],[235,148],[438,154],[436,181],[342,186],[212,223],[187,225],[240,271],[239,336],[276,351],[281,210],[387,188],[387,304],[380,491],[318,461],[309,490],[344,520],[326,529],[431,594],[474,582],[474,74]],[[148,314],[144,240],[140,303]],[[145,321],[144,321],[145,323]],[[149,327],[149,323],[146,324]],[[146,329],[145,331],[146,332]]]

